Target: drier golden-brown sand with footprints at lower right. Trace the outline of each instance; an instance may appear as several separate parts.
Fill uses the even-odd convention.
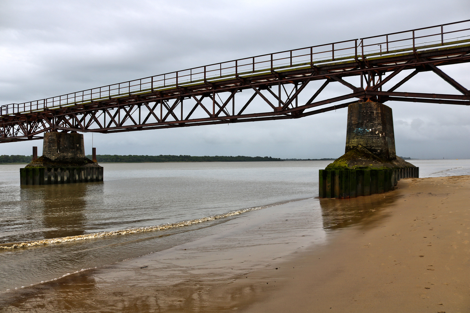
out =
[[[373,229],[259,272],[282,287],[243,312],[470,312],[470,176],[404,179],[393,192]]]

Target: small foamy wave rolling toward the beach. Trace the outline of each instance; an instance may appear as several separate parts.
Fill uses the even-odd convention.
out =
[[[279,205],[279,204],[281,203],[277,203],[275,205]],[[274,206],[274,205],[270,205],[270,206]],[[94,238],[125,235],[125,234],[142,233],[145,231],[170,229],[170,228],[176,228],[176,227],[181,227],[181,226],[188,226],[188,225],[193,225],[197,223],[202,223],[204,221],[213,221],[219,218],[243,214],[243,213],[250,212],[250,211],[264,209],[270,206],[251,207],[248,209],[232,211],[232,212],[228,212],[224,214],[211,215],[211,216],[203,217],[203,218],[196,219],[196,220],[180,221],[177,223],[167,223],[167,224],[162,224],[162,225],[157,225],[157,226],[135,227],[135,228],[122,229],[122,230],[102,231],[99,233],[92,233],[92,234],[85,234],[85,235],[78,235],[78,236],[68,236],[68,237],[60,237],[60,238],[31,240],[31,241],[24,241],[24,242],[17,242],[17,243],[1,244],[0,249],[16,249],[16,248],[23,248],[23,247],[32,247],[36,245],[55,244],[59,242],[77,241],[77,240],[94,239]]]

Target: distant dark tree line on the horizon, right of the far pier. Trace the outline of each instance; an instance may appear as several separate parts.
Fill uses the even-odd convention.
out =
[[[91,159],[91,155],[87,155]],[[102,163],[121,162],[245,162],[245,161],[282,161],[272,157],[247,157],[238,156],[190,156],[190,155],[110,155],[98,154],[96,160]]]

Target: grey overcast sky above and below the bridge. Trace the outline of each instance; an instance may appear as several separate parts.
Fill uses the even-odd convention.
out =
[[[469,18],[468,0],[1,0],[0,104]],[[441,68],[470,89],[469,64]],[[458,93],[431,73],[400,88]],[[398,155],[470,159],[470,107],[386,104]],[[346,115],[344,108],[298,120],[96,133],[93,140],[98,154],[336,158],[344,153]],[[86,153],[91,139],[85,134]],[[41,154],[42,140],[0,144],[0,154],[30,155],[33,145]]]

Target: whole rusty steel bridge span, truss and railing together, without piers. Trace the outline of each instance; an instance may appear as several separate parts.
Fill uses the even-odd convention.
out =
[[[1,106],[0,142],[39,139],[47,131],[110,133],[292,119],[366,99],[470,105],[470,91],[441,69],[469,61],[470,20],[259,55]],[[410,73],[393,82],[402,71]],[[422,71],[434,72],[459,94],[395,91]],[[347,81],[354,76],[360,83]],[[306,88],[318,80],[316,91]],[[316,100],[328,84],[343,84],[349,92]],[[306,92],[308,100],[300,103]]]

